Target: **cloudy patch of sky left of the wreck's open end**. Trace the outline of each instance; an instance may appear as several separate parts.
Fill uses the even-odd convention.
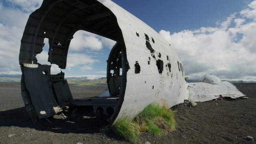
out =
[[[0,2],[0,74],[20,74],[18,55],[20,39],[28,14],[6,8]]]

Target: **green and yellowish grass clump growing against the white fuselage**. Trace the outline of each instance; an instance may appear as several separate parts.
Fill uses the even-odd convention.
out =
[[[174,113],[166,106],[150,104],[134,119],[128,117],[117,120],[110,129],[132,143],[140,143],[140,133],[149,132],[163,136],[174,130],[176,122]]]

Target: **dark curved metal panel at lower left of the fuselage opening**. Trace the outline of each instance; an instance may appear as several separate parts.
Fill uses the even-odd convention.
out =
[[[38,118],[46,118],[61,111],[52,93],[50,67],[48,65],[24,64],[26,88]]]

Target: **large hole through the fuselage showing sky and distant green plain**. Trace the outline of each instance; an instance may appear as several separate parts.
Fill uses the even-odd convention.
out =
[[[75,70],[77,76],[66,76],[73,96],[70,102],[74,106],[92,106],[96,115],[111,116],[121,89],[121,50],[124,47],[83,30],[73,37],[66,68],[67,73]]]

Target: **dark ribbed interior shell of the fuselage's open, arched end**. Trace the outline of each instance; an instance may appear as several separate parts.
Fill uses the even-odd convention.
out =
[[[70,42],[78,30],[117,42],[107,64],[110,95],[118,96],[111,120],[116,118],[124,100],[128,70],[126,47],[116,16],[96,0],[44,0],[42,6],[30,15],[20,46],[22,98],[32,119],[61,112],[70,100],[70,91],[65,91],[69,88],[64,73],[51,75],[50,66],[37,61],[36,55],[42,52],[44,38],[49,40],[48,62],[65,69]],[[43,71],[47,74],[43,75]]]

